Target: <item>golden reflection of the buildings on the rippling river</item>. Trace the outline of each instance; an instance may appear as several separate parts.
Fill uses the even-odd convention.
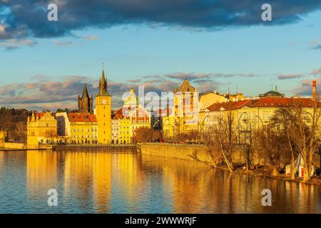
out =
[[[161,197],[173,213],[320,213],[320,187],[260,177],[231,175],[212,170],[199,162],[145,155],[111,155],[88,152],[29,151],[26,181],[31,198],[39,190],[56,188],[61,182],[70,207],[83,211],[139,212],[139,204],[155,209],[153,181],[161,176]],[[4,154],[0,153],[0,165]],[[61,179],[61,180],[58,180]],[[272,190],[272,207],[261,204],[263,189]],[[114,204],[112,203],[112,201]],[[123,210],[122,210],[123,209]]]

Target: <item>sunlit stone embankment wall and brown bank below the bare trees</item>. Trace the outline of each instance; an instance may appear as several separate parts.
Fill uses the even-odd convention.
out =
[[[208,167],[213,167],[212,157],[208,153],[207,147],[204,145],[180,145],[180,144],[170,144],[170,143],[143,143],[138,145],[138,151],[141,152],[142,155],[153,155],[158,157],[170,157],[175,159],[183,159],[183,160],[193,160],[202,162]],[[253,157],[255,163],[258,163],[258,157]],[[256,169],[250,169],[248,172],[245,169],[244,165],[240,165],[244,163],[245,155],[242,152],[238,151],[232,157],[233,164],[235,165],[235,170],[233,170],[233,174],[238,175],[250,175],[254,177],[263,177],[270,178],[274,180],[283,180],[288,182],[301,182],[310,185],[321,185],[320,177],[316,177],[315,179],[310,180],[309,182],[303,182],[302,178],[296,177],[295,180],[290,180],[287,175],[279,174],[277,176],[271,176],[272,167],[268,167],[267,165],[261,165]],[[264,162],[260,162],[260,164],[264,164]],[[226,172],[230,172],[228,167],[220,166],[217,167],[220,170],[225,170]]]

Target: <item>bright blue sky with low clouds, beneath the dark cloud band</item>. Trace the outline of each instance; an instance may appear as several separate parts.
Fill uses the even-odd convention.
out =
[[[40,28],[34,31],[30,23],[31,35],[18,36],[12,29],[0,36],[0,105],[76,108],[83,81],[96,94],[103,63],[114,107],[131,86],[173,90],[185,78],[202,92],[225,93],[228,88],[235,92],[238,87],[239,92],[254,96],[277,86],[288,96],[310,95],[311,80],[321,84],[320,4],[301,12],[300,20],[280,23],[277,19],[266,24],[186,25],[177,19],[154,23],[146,16],[138,23],[101,26],[92,21],[79,28],[76,24],[71,33],[49,32],[46,37],[38,33],[47,28],[37,25]],[[2,23],[14,28],[8,21]],[[66,26],[63,22],[51,23]]]

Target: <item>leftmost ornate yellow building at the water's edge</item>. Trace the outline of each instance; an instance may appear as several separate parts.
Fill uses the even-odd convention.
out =
[[[50,112],[32,113],[27,120],[28,148],[37,148],[40,143],[58,142],[57,120]]]

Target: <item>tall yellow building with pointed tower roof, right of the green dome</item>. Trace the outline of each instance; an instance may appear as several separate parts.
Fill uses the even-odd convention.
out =
[[[163,130],[166,138],[180,133],[198,130],[199,101],[198,91],[187,79],[180,88],[174,90],[174,107],[168,117],[163,117]]]

